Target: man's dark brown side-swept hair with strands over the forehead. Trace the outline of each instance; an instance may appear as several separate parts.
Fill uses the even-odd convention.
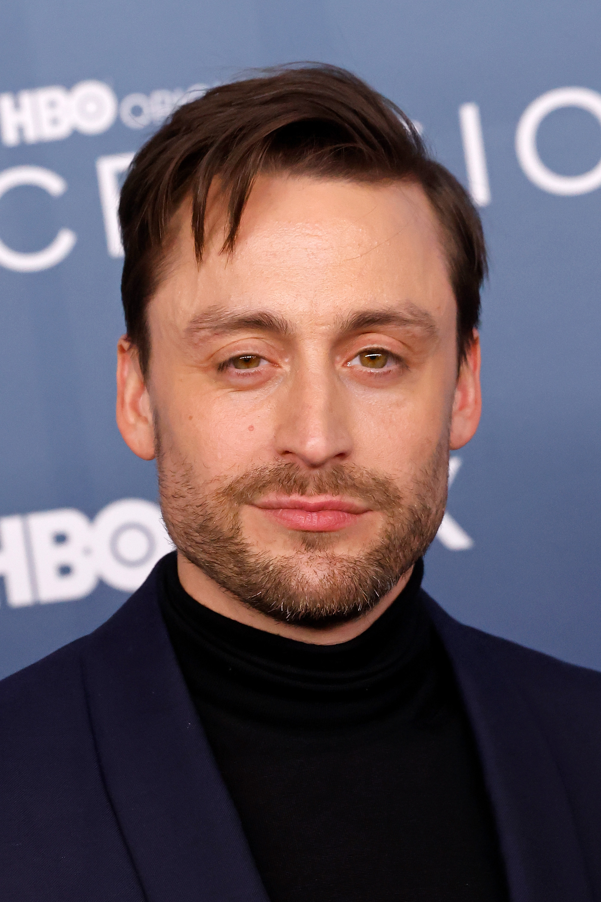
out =
[[[460,360],[478,326],[487,254],[478,212],[449,170],[434,161],[395,104],[344,69],[323,64],[267,69],[219,85],[180,106],[136,154],[123,184],[122,297],[127,335],[142,372],[150,357],[146,306],[159,281],[168,227],[192,200],[196,257],[216,176],[227,200],[223,251],[232,253],[244,205],[260,172],[422,186],[442,227],[457,299]]]

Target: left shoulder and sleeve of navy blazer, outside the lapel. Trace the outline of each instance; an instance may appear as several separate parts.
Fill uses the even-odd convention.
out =
[[[119,636],[123,608],[101,630]],[[145,898],[90,722],[84,665],[98,632],[0,682],[0,898]]]

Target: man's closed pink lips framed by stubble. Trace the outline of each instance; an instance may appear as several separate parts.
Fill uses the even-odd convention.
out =
[[[271,495],[255,502],[270,520],[287,529],[304,532],[333,532],[357,523],[369,512],[367,505],[351,498],[322,495]]]

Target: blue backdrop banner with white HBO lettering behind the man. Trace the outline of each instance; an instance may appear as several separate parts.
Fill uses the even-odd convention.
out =
[[[206,86],[293,60],[391,97],[484,219],[484,413],[426,588],[601,669],[600,33],[588,0],[4,0],[0,676],[94,629],[169,548],[114,423],[132,154]]]

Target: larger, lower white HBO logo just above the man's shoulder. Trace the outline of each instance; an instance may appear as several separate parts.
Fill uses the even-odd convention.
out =
[[[0,575],[12,607],[72,601],[99,579],[137,589],[173,549],[157,504],[124,498],[90,522],[81,511],[41,511],[0,517]]]

